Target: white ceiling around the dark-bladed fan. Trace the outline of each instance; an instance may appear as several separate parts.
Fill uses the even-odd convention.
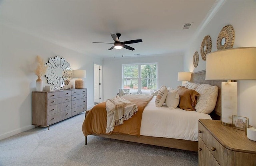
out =
[[[215,0],[17,0],[0,2],[1,24],[97,57],[183,52]],[[184,24],[193,23],[188,30]],[[120,41],[142,39],[128,49],[112,49],[110,33]],[[138,56],[138,55],[136,55]]]

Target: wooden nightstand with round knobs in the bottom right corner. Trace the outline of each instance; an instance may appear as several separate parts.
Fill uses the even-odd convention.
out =
[[[218,120],[199,119],[199,166],[256,166],[256,142]]]

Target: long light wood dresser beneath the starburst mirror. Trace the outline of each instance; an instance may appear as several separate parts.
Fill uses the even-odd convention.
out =
[[[32,92],[32,125],[48,127],[87,109],[86,89]]]

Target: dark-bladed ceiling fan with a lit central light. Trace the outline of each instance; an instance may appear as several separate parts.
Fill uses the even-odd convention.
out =
[[[130,49],[130,50],[134,50],[135,48],[132,48],[126,44],[132,44],[132,43],[139,43],[139,42],[142,42],[141,39],[137,39],[137,40],[129,40],[129,41],[124,41],[124,42],[121,42],[119,40],[119,37],[121,36],[121,34],[111,34],[113,40],[115,41],[115,43],[107,43],[107,44],[114,44],[112,47],[110,47],[110,49],[108,50],[111,50],[113,48],[115,49],[122,49],[123,47],[126,48],[126,49]],[[92,43],[104,43],[104,42],[92,42]]]

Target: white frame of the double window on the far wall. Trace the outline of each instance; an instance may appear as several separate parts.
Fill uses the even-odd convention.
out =
[[[138,91],[141,91],[141,65],[156,65],[156,87],[158,89],[158,63],[127,63],[127,64],[122,64],[122,88],[124,87],[124,66],[125,65],[138,65],[138,78],[131,78],[131,79],[138,79]],[[132,94],[137,94],[132,93]],[[148,93],[143,93],[142,94],[148,94]]]

